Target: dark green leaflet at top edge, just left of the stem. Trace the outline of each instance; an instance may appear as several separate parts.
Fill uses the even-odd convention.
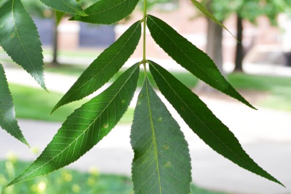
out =
[[[88,16],[74,16],[70,20],[94,24],[113,24],[129,16],[139,0],[99,0],[87,9]]]

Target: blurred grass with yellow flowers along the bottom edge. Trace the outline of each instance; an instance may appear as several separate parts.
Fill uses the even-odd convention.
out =
[[[28,162],[10,160],[0,161],[0,194],[133,194],[129,177],[99,174],[97,168],[89,173],[61,169],[46,177],[35,178],[18,183],[6,189],[4,185],[23,172]],[[192,194],[225,194],[208,191],[194,185]]]

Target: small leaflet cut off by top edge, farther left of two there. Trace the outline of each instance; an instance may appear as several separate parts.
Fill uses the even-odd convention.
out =
[[[76,0],[41,0],[49,7],[58,10],[60,12],[78,14],[80,16],[87,16],[79,3]]]

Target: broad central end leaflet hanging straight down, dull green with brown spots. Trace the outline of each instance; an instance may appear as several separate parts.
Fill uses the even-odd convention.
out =
[[[188,144],[147,78],[138,97],[130,139],[135,194],[190,193]]]

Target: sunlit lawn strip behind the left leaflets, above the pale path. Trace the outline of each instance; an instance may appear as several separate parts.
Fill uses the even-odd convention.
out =
[[[42,89],[16,84],[10,84],[10,89],[16,107],[17,118],[64,122],[68,115],[87,101],[85,99],[67,104],[52,115],[49,115],[54,105],[63,97],[62,94],[56,92],[48,93]],[[133,109],[129,109],[120,122],[130,123],[132,118]]]

